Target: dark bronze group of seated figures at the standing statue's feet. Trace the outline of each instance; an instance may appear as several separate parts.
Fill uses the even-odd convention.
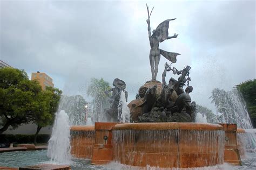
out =
[[[171,68],[165,64],[164,73],[162,75],[163,83],[160,96],[156,97],[152,91],[153,86],[147,89],[144,96],[142,114],[138,117],[138,122],[194,122],[196,113],[196,102],[191,102],[190,93],[193,90],[192,86],[187,86],[183,89],[185,83],[189,84],[190,66],[186,66],[183,70],[178,71],[176,68]],[[166,73],[170,70],[174,74],[181,74],[178,80],[171,78],[167,84],[165,81]],[[187,76],[187,78],[186,78]],[[147,105],[150,101],[150,105]],[[146,109],[145,109],[146,108]]]

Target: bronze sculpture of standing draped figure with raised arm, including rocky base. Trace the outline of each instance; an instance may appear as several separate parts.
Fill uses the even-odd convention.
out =
[[[172,67],[172,63],[177,61],[176,57],[180,54],[159,49],[160,42],[177,38],[178,34],[174,34],[172,37],[168,36],[169,22],[174,19],[167,19],[160,23],[151,35],[150,16],[152,10],[149,12],[149,7],[147,6],[148,19],[146,22],[151,47],[150,66],[152,80],[147,81],[140,87],[136,100],[130,102],[131,119],[134,122],[194,122],[196,102],[192,102],[189,95],[193,90],[193,87],[189,86],[191,67],[186,66],[182,70]],[[171,65],[167,62],[165,63],[162,83],[156,80],[160,54],[171,61]],[[167,83],[165,77],[167,72],[170,71],[174,75],[180,76],[178,80],[171,77]],[[184,86],[187,86],[185,91],[183,89]]]

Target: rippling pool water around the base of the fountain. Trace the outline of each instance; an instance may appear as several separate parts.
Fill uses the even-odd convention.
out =
[[[54,164],[50,162],[50,159],[46,156],[47,151],[15,151],[0,153],[0,166],[7,167],[22,167],[38,164]],[[91,165],[90,160],[72,158],[72,169],[137,169],[136,167],[129,167],[122,164],[112,162],[104,166]],[[147,167],[146,169],[155,169]],[[158,168],[157,168],[158,169]],[[247,158],[242,160],[242,166],[231,166],[224,164],[217,167],[206,168],[193,168],[193,169],[238,169],[249,170],[256,169],[256,153],[247,153]]]

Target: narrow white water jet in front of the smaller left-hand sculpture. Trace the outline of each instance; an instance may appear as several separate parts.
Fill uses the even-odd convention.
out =
[[[118,121],[130,123],[130,109],[127,107],[124,91],[121,91],[118,105]]]

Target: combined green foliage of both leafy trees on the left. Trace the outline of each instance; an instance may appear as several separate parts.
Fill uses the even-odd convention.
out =
[[[39,126],[52,123],[58,89],[42,91],[37,81],[30,81],[24,70],[0,69],[0,133],[12,126],[34,122]]]

